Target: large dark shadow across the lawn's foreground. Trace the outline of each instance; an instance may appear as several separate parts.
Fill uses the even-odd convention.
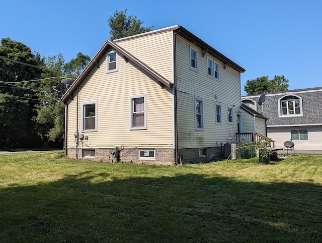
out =
[[[322,240],[322,191],[313,184],[90,174],[1,189],[0,242]]]

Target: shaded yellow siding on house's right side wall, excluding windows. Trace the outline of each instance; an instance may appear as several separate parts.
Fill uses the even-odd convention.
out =
[[[237,112],[240,112],[240,74],[219,63],[219,81],[207,76],[207,55],[177,36],[178,141],[179,148],[214,147],[227,143],[237,132]],[[190,69],[190,45],[198,50],[198,71]],[[203,99],[204,130],[195,130],[194,97]],[[215,102],[221,103],[222,124],[215,123]],[[233,107],[233,124],[228,124],[227,105]]]

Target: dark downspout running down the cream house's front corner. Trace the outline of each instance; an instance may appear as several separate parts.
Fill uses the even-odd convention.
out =
[[[180,30],[179,30],[180,31]],[[179,151],[178,151],[178,116],[177,116],[177,48],[176,48],[176,35],[174,34],[174,111],[175,111],[175,164],[181,165],[179,162]]]

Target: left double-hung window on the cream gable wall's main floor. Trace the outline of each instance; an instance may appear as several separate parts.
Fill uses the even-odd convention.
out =
[[[82,131],[96,132],[97,131],[97,100],[82,102]]]

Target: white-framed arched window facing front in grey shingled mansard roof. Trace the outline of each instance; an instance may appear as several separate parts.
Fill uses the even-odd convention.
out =
[[[285,95],[278,100],[279,117],[303,116],[302,98],[298,95]]]

